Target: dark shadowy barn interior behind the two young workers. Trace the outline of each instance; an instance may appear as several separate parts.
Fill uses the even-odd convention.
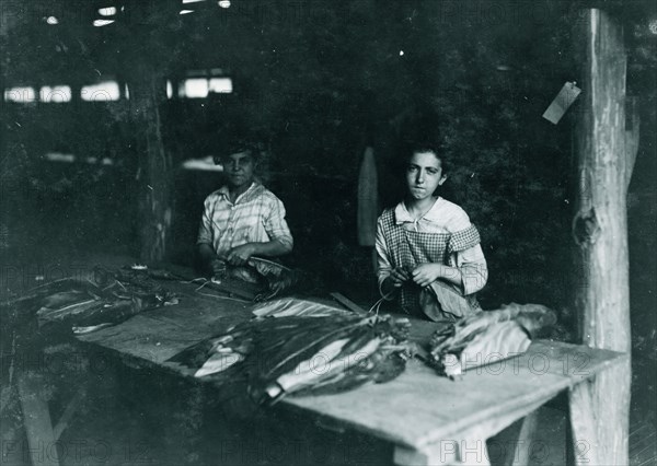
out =
[[[125,8],[114,24],[94,27],[97,9],[110,3]],[[131,101],[85,102],[76,90],[105,78],[129,88],[140,70],[175,89],[191,70],[220,68],[232,93],[174,93],[159,103],[176,171],[170,260],[192,263],[203,199],[221,184],[220,174],[181,163],[221,153],[235,131],[256,131],[270,151],[267,186],[284,200],[296,238],[290,261],[347,293],[369,292],[371,252],[356,237],[364,150],[374,148],[381,207],[391,206],[402,194],[401,141],[433,133],[452,167],[442,195],[482,234],[491,271],[483,306],[542,303],[558,310],[567,327],[578,276],[569,231],[579,107],[556,126],[541,115],[565,81],[578,81],[574,31],[585,4],[612,11],[625,25],[627,94],[639,97],[641,147],[627,202],[632,325],[637,354],[654,364],[657,10],[650,1],[233,0],[228,9],[188,4],[194,13],[180,15],[174,0],[5,0],[1,86],[65,84],[73,98],[1,103],[2,289],[15,284],[7,267],[53,252],[139,255],[141,129]],[[59,24],[47,24],[50,15]],[[51,162],[49,152],[113,164]]]

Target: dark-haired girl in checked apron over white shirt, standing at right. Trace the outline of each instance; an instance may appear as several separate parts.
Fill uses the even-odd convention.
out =
[[[481,310],[474,294],[488,271],[468,214],[435,191],[447,179],[431,147],[417,147],[406,166],[405,199],[377,224],[379,289],[401,308],[433,321],[456,321]]]

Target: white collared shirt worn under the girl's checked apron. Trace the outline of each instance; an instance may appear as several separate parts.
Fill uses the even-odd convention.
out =
[[[463,209],[441,197],[436,199],[429,211],[417,220],[408,213],[404,202],[400,202],[394,209],[394,221],[395,224],[403,225],[405,230],[420,233],[456,233],[472,225],[470,218]],[[380,288],[383,280],[392,272],[391,256],[388,252],[383,229],[380,223],[377,228],[376,247],[379,263],[378,278]],[[475,293],[486,284],[488,268],[480,244],[465,251],[450,254],[449,265],[461,270],[464,295]]]

